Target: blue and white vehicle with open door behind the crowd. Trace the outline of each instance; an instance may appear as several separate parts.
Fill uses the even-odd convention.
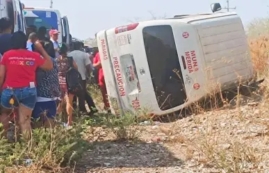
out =
[[[24,8],[24,16],[26,26],[34,25],[37,28],[44,26],[47,28],[47,37],[49,38],[49,30],[57,29],[60,32],[58,42],[65,42],[70,44],[70,29],[68,19],[66,16],[63,18],[59,10],[53,8]]]

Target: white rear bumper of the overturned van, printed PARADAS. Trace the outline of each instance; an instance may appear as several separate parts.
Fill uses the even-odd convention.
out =
[[[106,81],[106,90],[108,94],[108,101],[111,107],[111,113],[120,115],[122,113],[122,106],[117,93],[115,76],[113,75],[114,73],[108,50],[106,31],[99,31],[99,33],[97,33],[97,44],[101,59],[101,66],[104,72],[104,79]]]

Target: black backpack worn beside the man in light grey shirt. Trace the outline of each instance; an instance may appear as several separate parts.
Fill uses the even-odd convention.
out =
[[[79,94],[83,88],[81,86],[82,77],[78,70],[74,69],[73,57],[67,57],[70,60],[70,69],[66,73],[67,90],[71,94]]]

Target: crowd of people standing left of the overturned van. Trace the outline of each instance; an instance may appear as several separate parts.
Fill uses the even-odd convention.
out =
[[[10,128],[10,121],[17,122],[24,138],[31,137],[31,129],[40,126],[54,126],[55,117],[62,113],[66,101],[68,115],[65,126],[72,125],[73,101],[79,99],[81,113],[97,113],[95,103],[87,92],[86,80],[92,67],[99,69],[99,85],[106,108],[104,74],[102,74],[99,53],[89,55],[81,51],[81,42],[73,43],[73,51],[67,44],[58,44],[59,32],[34,26],[28,28],[27,35],[22,31],[12,33],[13,22],[8,18],[0,19],[0,88],[1,115],[4,133]],[[95,56],[95,58],[92,58]],[[94,61],[93,63],[91,62]],[[81,90],[74,92],[67,82],[67,73],[77,71]],[[75,99],[74,99],[75,98]]]

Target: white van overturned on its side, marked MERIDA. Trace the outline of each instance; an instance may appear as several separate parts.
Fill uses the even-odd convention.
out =
[[[213,5],[213,12],[220,9],[219,3]],[[209,93],[254,79],[247,38],[236,13],[129,24],[100,31],[97,42],[114,114],[139,108],[169,114]]]

